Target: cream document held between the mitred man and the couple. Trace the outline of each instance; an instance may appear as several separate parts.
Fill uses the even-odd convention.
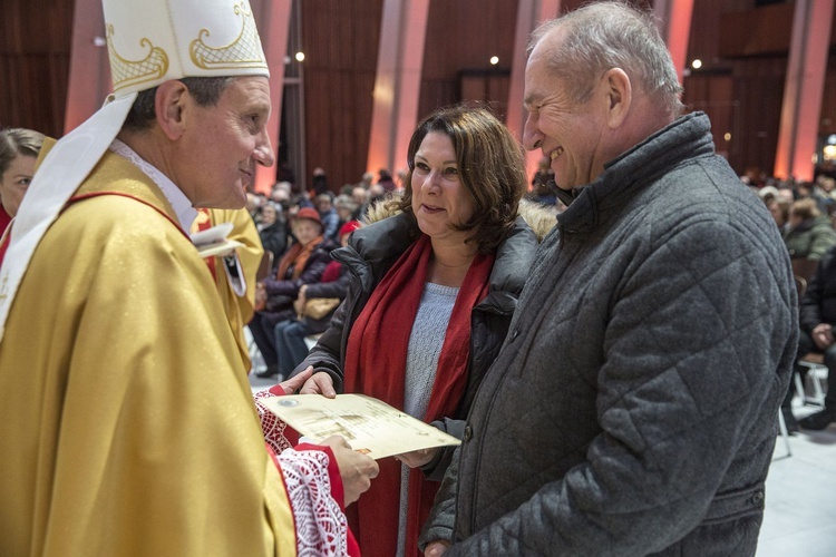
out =
[[[363,394],[295,394],[262,399],[271,412],[314,442],[342,436],[351,448],[378,459],[459,440]]]

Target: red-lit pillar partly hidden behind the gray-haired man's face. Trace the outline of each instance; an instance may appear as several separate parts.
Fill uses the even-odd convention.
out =
[[[556,18],[560,11],[561,0],[519,0],[517,6],[514,59],[511,62],[511,84],[508,86],[508,114],[505,116],[505,124],[521,141],[523,140],[523,126],[526,119],[525,108],[523,108],[523,91],[525,90],[528,39],[539,23]],[[537,172],[537,160],[542,156],[543,154],[538,150],[527,153],[526,168],[529,178]]]

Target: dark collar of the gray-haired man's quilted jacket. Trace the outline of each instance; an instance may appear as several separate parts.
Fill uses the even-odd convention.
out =
[[[561,232],[591,232],[602,212],[623,205],[679,164],[713,152],[708,116],[692,113],[678,118],[607,163],[593,183],[560,190],[558,197],[568,205],[560,215]]]

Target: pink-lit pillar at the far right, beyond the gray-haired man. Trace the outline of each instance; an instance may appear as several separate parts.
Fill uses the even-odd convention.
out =
[[[834,0],[796,0],[772,174],[813,179]]]

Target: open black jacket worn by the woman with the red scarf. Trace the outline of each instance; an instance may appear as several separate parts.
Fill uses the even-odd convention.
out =
[[[314,371],[328,372],[338,392],[342,392],[342,373],[351,326],[369,301],[371,293],[398,257],[420,235],[415,218],[405,213],[385,218],[354,231],[347,247],[332,256],[349,268],[351,283],[348,295],[337,310],[331,326],[320,338],[308,358],[293,374],[313,365]],[[482,377],[496,358],[517,305],[517,297],[528,277],[537,238],[517,217],[516,226],[498,247],[487,297],[473,310],[470,362],[467,388],[458,411],[451,419],[435,424],[448,433],[461,437],[464,418]],[[435,462],[425,467],[430,479],[440,479],[453,456],[453,450],[439,451]]]

